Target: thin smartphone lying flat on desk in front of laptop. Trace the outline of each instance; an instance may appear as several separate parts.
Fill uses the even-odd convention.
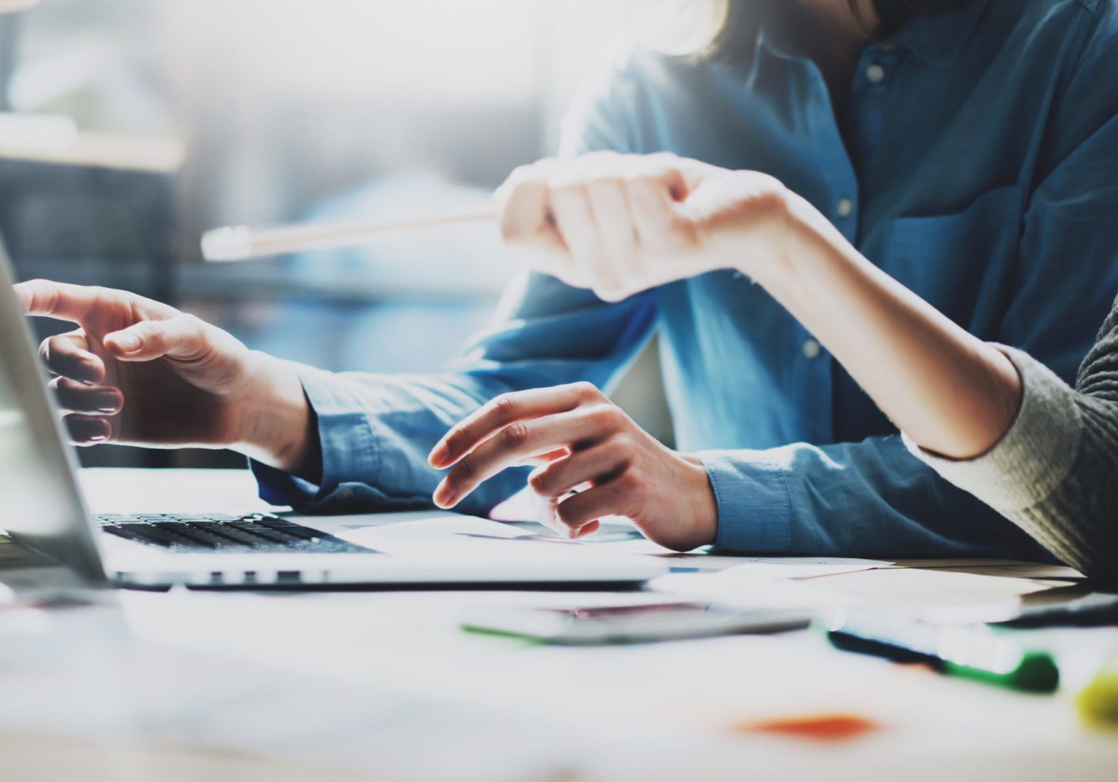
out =
[[[563,609],[501,609],[462,623],[472,632],[531,638],[546,643],[664,641],[805,628],[812,616],[777,609],[731,609],[702,602],[663,602]]]

